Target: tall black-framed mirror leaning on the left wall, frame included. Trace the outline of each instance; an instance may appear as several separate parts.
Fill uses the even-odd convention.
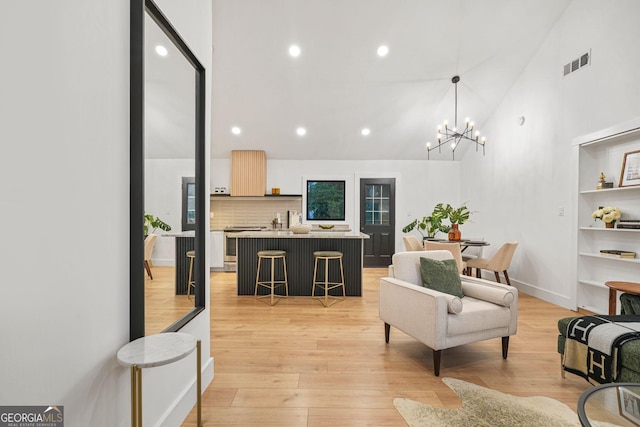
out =
[[[205,306],[204,81],[158,6],[131,0],[131,340],[177,331]],[[181,218],[185,179],[194,184],[195,229]],[[146,230],[169,259],[161,265],[147,259],[145,213],[171,226]]]

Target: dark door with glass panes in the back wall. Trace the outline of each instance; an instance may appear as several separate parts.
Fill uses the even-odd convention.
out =
[[[360,180],[360,231],[364,241],[364,266],[387,267],[395,249],[395,178]]]

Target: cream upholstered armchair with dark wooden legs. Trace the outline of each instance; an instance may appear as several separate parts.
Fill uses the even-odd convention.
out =
[[[488,280],[460,276],[464,297],[422,286],[420,258],[452,259],[449,251],[398,252],[389,277],[380,279],[379,315],[389,343],[393,326],[433,350],[433,370],[440,375],[442,350],[502,338],[507,358],[509,336],[518,325],[518,290]]]

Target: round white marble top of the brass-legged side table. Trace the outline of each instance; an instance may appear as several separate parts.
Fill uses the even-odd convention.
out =
[[[122,346],[118,362],[123,366],[138,365],[151,368],[176,362],[196,348],[193,335],[182,332],[165,332],[138,338]]]

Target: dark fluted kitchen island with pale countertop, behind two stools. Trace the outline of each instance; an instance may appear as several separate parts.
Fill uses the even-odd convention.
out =
[[[294,234],[291,231],[244,231],[237,233],[238,295],[253,295],[256,285],[258,251],[287,252],[287,278],[290,296],[311,296],[315,251],[340,251],[347,296],[362,296],[363,242],[369,236],[356,232],[311,231]],[[318,269],[324,267],[321,264]],[[276,263],[276,277],[282,266]],[[260,280],[268,280],[270,266],[264,263]],[[329,280],[339,281],[338,262],[329,264]],[[278,280],[278,279],[276,279]],[[338,290],[335,289],[335,292]]]

